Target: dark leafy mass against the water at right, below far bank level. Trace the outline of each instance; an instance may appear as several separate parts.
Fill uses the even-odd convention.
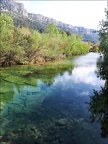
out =
[[[99,121],[101,124],[102,137],[108,137],[108,56],[104,55],[98,60],[97,76],[105,80],[105,84],[98,92],[94,90],[90,98],[89,110],[91,121]]]

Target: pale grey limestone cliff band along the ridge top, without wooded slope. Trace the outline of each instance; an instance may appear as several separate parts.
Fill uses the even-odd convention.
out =
[[[47,26],[49,23],[54,23],[60,29],[69,31],[70,33],[80,34],[85,41],[97,42],[99,39],[98,33],[94,29],[87,29],[79,26],[72,26],[70,24],[57,21],[40,14],[28,13],[24,8],[24,4],[15,2],[15,0],[0,0],[0,11],[6,11],[22,17],[26,17],[35,24],[42,24]]]

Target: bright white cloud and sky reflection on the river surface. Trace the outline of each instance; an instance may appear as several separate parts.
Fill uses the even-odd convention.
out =
[[[55,77],[53,86],[61,85],[62,89],[71,88],[78,92],[78,96],[90,95],[94,87],[99,90],[100,86],[104,85],[104,80],[97,78],[95,73],[98,58],[98,54],[90,53],[75,59],[75,68],[72,73],[65,72],[62,76]]]

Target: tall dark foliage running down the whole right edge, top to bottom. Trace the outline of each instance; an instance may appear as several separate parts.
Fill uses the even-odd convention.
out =
[[[101,22],[100,28],[100,51],[102,56],[98,60],[97,76],[105,81],[100,91],[94,90],[90,99],[89,110],[91,121],[99,121],[101,124],[102,137],[108,137],[108,11],[106,20]]]

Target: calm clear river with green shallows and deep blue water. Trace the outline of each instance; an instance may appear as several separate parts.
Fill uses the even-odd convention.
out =
[[[97,77],[98,58],[98,53],[88,53],[56,70],[2,68],[1,143],[108,144],[101,124],[91,123],[88,104],[93,89],[105,84]]]

